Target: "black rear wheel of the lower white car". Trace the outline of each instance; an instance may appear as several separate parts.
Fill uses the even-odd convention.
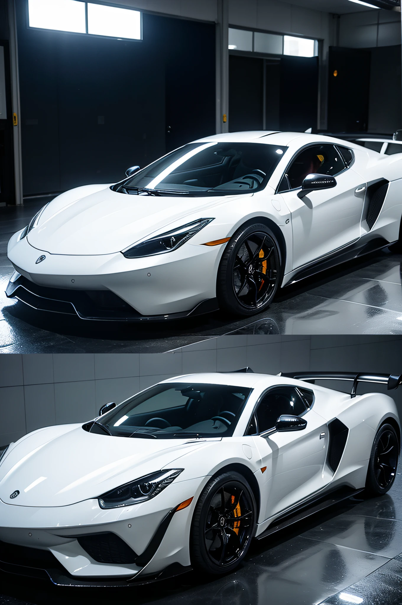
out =
[[[390,424],[383,424],[375,436],[367,469],[366,492],[383,495],[394,483],[397,474],[399,443],[397,433]]]

